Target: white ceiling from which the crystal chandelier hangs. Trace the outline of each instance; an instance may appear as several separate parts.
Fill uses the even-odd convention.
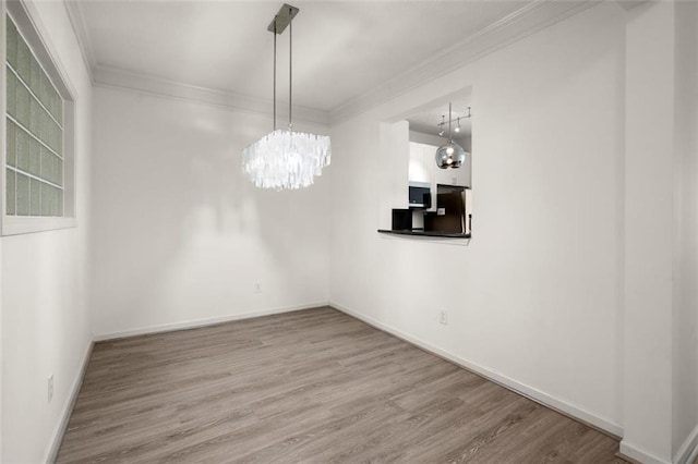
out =
[[[467,47],[541,3],[550,2],[293,1],[300,9],[293,20],[293,103],[334,111],[396,76],[408,80],[424,63],[447,61],[459,44]],[[565,3],[569,10],[580,2]],[[273,76],[266,27],[281,4],[83,0],[69,12],[93,75],[127,71],[266,101]],[[278,36],[280,100],[288,98],[288,29]]]

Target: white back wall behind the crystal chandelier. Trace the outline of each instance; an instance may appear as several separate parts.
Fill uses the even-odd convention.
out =
[[[326,304],[334,167],[257,190],[241,151],[269,118],[100,87],[94,117],[97,337]]]

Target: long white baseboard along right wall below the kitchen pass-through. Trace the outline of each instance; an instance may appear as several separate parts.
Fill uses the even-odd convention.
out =
[[[373,319],[369,316],[362,315],[361,313],[349,309],[346,306],[342,306],[338,303],[329,302],[329,306],[335,309],[338,309],[342,313],[346,313],[349,316],[356,317],[370,326],[375,327],[376,329],[383,330],[387,333],[390,333],[406,342],[409,342],[422,350],[425,350],[430,353],[433,353],[440,357],[443,357],[465,369],[471,370],[489,380],[492,380],[495,383],[505,387],[508,390],[512,390],[516,393],[519,393],[537,403],[540,403],[546,407],[550,407],[554,411],[557,411],[566,416],[570,416],[577,420],[580,420],[593,428],[597,428],[601,431],[610,434],[615,438],[621,438],[623,436],[623,427],[612,420],[609,420],[604,417],[600,417],[593,413],[582,410],[574,404],[570,404],[566,401],[558,400],[550,394],[542,392],[533,387],[521,383],[515,379],[506,377],[502,374],[498,374],[494,370],[491,370],[486,367],[480,366],[478,364],[471,363],[467,359],[464,359],[453,353],[448,353],[429,342],[425,342],[417,337],[413,337],[409,333],[406,333],[399,329],[396,329],[392,326],[388,326],[384,322],[381,322],[376,319]]]

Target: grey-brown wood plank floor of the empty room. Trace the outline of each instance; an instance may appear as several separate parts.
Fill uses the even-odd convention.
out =
[[[618,443],[332,308],[95,344],[59,463],[624,463]]]

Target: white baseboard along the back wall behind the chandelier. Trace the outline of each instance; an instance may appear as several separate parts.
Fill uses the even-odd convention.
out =
[[[328,304],[329,303],[327,301],[316,302],[316,303],[306,303],[302,305],[281,306],[281,307],[272,308],[272,309],[251,310],[246,313],[239,313],[239,314],[219,316],[219,317],[209,317],[205,319],[193,319],[184,322],[163,323],[159,326],[151,326],[142,329],[120,330],[117,332],[97,334],[94,337],[94,341],[101,342],[105,340],[123,339],[125,337],[143,335],[147,333],[160,333],[160,332],[171,332],[174,330],[195,329],[198,327],[214,326],[216,323],[229,322],[232,320],[251,319],[253,317],[272,316],[275,314],[311,309],[311,308],[327,306]]]

